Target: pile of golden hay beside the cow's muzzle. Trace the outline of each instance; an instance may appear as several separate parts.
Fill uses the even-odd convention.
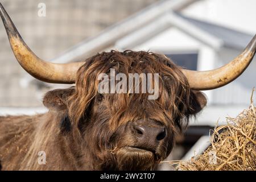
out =
[[[214,129],[212,145],[203,154],[188,162],[179,162],[176,169],[256,170],[256,107],[252,96],[249,109],[243,110],[237,118],[227,118],[225,126]]]

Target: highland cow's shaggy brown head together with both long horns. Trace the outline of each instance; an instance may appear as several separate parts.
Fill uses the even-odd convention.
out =
[[[188,118],[206,105],[197,90],[219,88],[236,79],[253,59],[256,36],[236,59],[212,71],[189,71],[164,55],[149,52],[103,52],[81,63],[54,64],[39,59],[23,42],[2,5],[0,15],[19,64],[35,78],[46,82],[73,84],[53,90],[44,105],[63,113],[61,131],[81,143],[80,160],[97,161],[96,169],[152,169],[170,154],[175,133],[187,126]],[[158,73],[158,97],[150,93],[101,93],[99,76],[122,73]],[[115,85],[118,80],[115,80]],[[155,86],[154,79],[147,84]],[[127,88],[129,83],[126,82]],[[134,89],[143,86],[139,81]],[[123,87],[123,86],[122,86]],[[111,90],[112,88],[109,88]]]

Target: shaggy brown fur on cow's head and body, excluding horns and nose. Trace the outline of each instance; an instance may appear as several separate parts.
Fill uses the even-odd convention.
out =
[[[147,93],[98,94],[100,73],[159,73],[159,97]],[[175,133],[187,126],[206,100],[189,88],[180,69],[163,55],[149,52],[103,52],[86,60],[76,87],[44,97],[49,112],[32,117],[0,117],[3,170],[153,169],[170,154]],[[141,150],[132,123],[160,123],[167,136],[155,152]],[[38,152],[47,164],[38,164]]]

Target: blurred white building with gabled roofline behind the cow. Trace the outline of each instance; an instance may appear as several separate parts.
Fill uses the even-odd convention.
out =
[[[132,49],[164,53],[188,69],[218,68],[239,55],[255,34],[255,5],[254,0],[159,1],[54,60],[81,60],[96,52]],[[256,86],[255,70],[254,58],[237,80],[205,91],[208,106],[191,124],[214,126],[219,118],[225,121],[228,114],[234,117],[245,109]]]

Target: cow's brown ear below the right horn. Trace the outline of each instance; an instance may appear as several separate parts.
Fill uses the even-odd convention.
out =
[[[191,90],[189,114],[199,113],[207,105],[207,97],[203,92]]]

